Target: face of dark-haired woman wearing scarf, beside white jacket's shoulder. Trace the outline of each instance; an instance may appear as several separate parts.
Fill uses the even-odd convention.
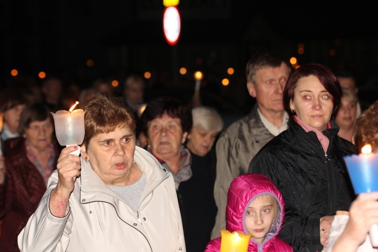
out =
[[[148,123],[148,144],[152,153],[162,160],[167,156],[181,155],[181,144],[186,136],[187,132],[182,132],[180,119],[166,113]]]

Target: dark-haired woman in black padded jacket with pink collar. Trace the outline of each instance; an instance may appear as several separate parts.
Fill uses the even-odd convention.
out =
[[[354,199],[343,157],[356,149],[337,136],[334,122],[341,87],[329,69],[310,64],[290,75],[283,99],[289,127],[259,151],[248,171],[270,177],[284,197],[279,237],[294,251],[321,251],[336,210],[348,210]]]

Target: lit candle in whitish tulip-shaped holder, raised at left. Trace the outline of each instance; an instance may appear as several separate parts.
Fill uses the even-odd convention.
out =
[[[83,109],[75,109],[77,101],[69,111],[59,110],[52,113],[55,124],[55,134],[61,146],[79,145],[84,140],[84,114]],[[75,153],[79,155],[80,149]]]

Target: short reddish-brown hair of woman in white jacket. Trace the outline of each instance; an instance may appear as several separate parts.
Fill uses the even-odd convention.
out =
[[[83,107],[85,112],[85,136],[83,144],[88,149],[89,141],[97,134],[109,133],[117,127],[129,127],[135,135],[135,118],[133,112],[124,105],[121,97],[112,97],[98,93],[89,98]]]

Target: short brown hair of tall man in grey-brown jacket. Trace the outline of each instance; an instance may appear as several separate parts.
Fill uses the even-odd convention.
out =
[[[245,74],[247,81],[253,82],[256,84],[255,75],[259,69],[262,68],[278,68],[281,64],[286,64],[287,68],[290,71],[289,65],[281,57],[272,54],[272,53],[257,53],[254,54],[247,62],[245,67]]]

